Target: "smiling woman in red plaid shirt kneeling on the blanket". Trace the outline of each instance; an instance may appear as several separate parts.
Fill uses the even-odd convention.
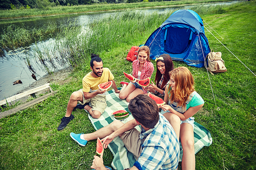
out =
[[[150,78],[154,71],[154,65],[150,61],[150,48],[148,46],[141,46],[138,50],[138,59],[133,61],[133,77],[134,82],[121,82],[123,85],[119,93],[121,100],[126,99],[130,102],[131,99],[135,98],[139,94],[146,94],[147,90],[137,83],[139,80]]]

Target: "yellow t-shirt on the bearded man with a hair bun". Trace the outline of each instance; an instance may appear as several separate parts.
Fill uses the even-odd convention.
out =
[[[92,71],[91,71],[92,72]],[[101,83],[109,82],[114,80],[114,76],[109,68],[103,68],[101,77],[92,77],[91,72],[89,72],[82,79],[82,91],[83,92],[94,92],[99,89],[98,85]]]

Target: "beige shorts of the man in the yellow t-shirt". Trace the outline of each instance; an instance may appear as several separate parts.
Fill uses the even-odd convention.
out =
[[[86,103],[91,102],[92,110],[97,110],[101,114],[105,111],[106,108],[106,96],[105,95],[96,95],[91,99],[84,99],[83,91],[82,89],[78,90],[82,93],[82,101],[78,101],[81,105],[84,105]]]

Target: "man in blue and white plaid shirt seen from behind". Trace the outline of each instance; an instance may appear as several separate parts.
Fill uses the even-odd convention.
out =
[[[88,140],[103,138],[104,148],[119,136],[127,150],[134,154],[137,161],[131,169],[177,169],[179,162],[179,140],[168,120],[158,112],[155,101],[139,94],[128,106],[134,119],[126,124],[115,120],[110,125],[90,134],[70,136],[80,145]],[[141,132],[135,129],[141,126]],[[103,165],[102,155],[94,156],[91,168],[108,169]]]

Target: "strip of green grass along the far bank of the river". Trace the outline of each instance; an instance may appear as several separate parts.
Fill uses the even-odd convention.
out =
[[[92,4],[79,6],[55,6],[46,9],[16,9],[16,10],[0,10],[0,19],[6,18],[20,18],[28,16],[48,16],[56,14],[70,14],[82,12],[97,12],[97,11],[111,11],[123,9],[139,9],[139,8],[166,8],[168,6],[182,6],[189,4],[205,4],[216,2],[227,2],[228,0],[184,0],[184,1],[164,1],[164,2],[141,2],[141,3],[120,3],[120,4]],[[0,20],[1,22],[8,22],[7,20]]]

